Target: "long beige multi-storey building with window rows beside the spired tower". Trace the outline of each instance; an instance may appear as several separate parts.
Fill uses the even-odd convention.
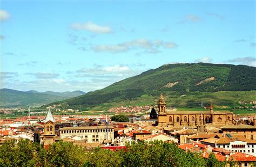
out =
[[[86,143],[103,143],[114,140],[114,128],[112,126],[80,126],[59,128],[60,139],[78,136]],[[107,136],[107,137],[106,137]],[[109,143],[109,142],[108,142]]]

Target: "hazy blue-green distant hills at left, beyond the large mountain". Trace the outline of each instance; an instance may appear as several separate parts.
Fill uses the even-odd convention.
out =
[[[60,93],[38,92],[35,90],[23,92],[12,89],[0,89],[0,107],[42,106],[84,94],[85,92],[83,91]]]

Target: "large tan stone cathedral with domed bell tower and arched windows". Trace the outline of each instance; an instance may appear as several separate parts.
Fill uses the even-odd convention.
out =
[[[228,125],[234,124],[235,113],[230,111],[213,111],[211,103],[210,111],[174,111],[166,109],[163,94],[158,100],[158,124],[171,125],[173,127],[199,127],[205,124]]]

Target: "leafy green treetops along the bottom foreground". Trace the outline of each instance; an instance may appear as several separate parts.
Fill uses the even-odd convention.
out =
[[[0,147],[0,166],[224,166],[213,154],[204,159],[199,154],[179,149],[173,143],[133,142],[126,149],[111,151],[73,146],[57,142],[46,150],[29,140],[8,140]]]

